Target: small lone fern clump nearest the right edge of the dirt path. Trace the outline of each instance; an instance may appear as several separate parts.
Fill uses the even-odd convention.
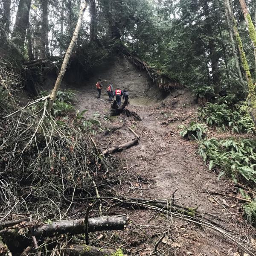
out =
[[[207,133],[207,128],[204,124],[199,124],[194,121],[190,122],[188,126],[181,125],[180,128],[183,129],[182,131],[180,131],[180,136],[189,140],[202,140]]]

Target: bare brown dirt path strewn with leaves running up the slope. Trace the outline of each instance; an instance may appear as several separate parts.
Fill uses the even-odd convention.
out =
[[[189,123],[197,116],[197,105],[191,92],[186,89],[175,90],[164,101],[152,105],[143,105],[143,100],[131,99],[133,104],[128,105],[127,109],[141,117],[142,120],[137,121],[124,114],[104,120],[103,115],[108,115],[111,108],[105,90],[102,90],[102,99],[97,99],[97,91],[91,85],[74,89],[79,91],[76,108],[87,109],[88,117],[99,111],[102,127],[111,131],[95,136],[98,148],[119,145],[133,139],[134,135],[128,127],[140,136],[138,145],[114,154],[119,161],[119,170],[116,172],[127,177],[126,182],[113,186],[116,192],[126,197],[154,199],[172,198],[177,189],[177,202],[198,206],[198,211],[206,218],[213,217],[231,234],[250,241],[253,230],[243,218],[241,203],[233,198],[209,193],[215,191],[237,195],[234,183],[225,178],[218,180],[218,173],[209,171],[197,155],[198,144],[184,140],[179,135],[178,126]],[[172,118],[177,120],[166,124]],[[211,131],[211,136],[229,137],[231,134]],[[148,236],[163,232],[163,220],[152,216],[148,210],[120,209],[118,213],[128,213],[134,224],[146,228]],[[170,218],[169,221],[172,223],[172,232],[168,233],[164,243],[169,243],[175,255],[239,255],[236,254],[239,251],[237,244],[228,241],[217,231],[176,218]],[[129,232],[132,233],[132,230]],[[134,244],[134,238],[129,238],[129,234],[126,239],[128,244]],[[141,256],[152,252],[150,244],[138,243],[137,249]]]

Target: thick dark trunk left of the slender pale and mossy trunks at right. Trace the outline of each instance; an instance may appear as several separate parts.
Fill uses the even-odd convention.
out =
[[[215,42],[214,42],[214,37],[213,37],[213,31],[212,31],[212,20],[210,19],[210,12],[209,12],[209,6],[208,6],[208,0],[204,1],[204,16],[206,17],[205,19],[205,29],[207,31],[207,35],[209,35],[209,52],[210,52],[210,58],[211,58],[211,65],[212,65],[212,82],[214,84],[214,91],[215,93],[219,93],[221,88],[220,88],[220,77],[219,77],[219,72],[218,72],[218,55],[216,53],[215,49]]]

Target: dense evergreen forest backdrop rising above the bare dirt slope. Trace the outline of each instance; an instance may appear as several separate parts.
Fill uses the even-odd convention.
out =
[[[19,65],[20,61],[64,55],[79,6],[79,0],[3,0],[1,56],[9,52],[8,57]],[[73,51],[81,53],[85,70],[102,63],[120,43],[183,85],[236,93],[247,86],[231,31],[233,20],[227,17],[230,6],[255,83],[253,47],[238,0],[90,0],[88,6]],[[248,0],[247,7],[255,24],[256,4]]]

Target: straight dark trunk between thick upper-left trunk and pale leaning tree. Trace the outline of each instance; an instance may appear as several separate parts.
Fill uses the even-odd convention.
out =
[[[41,29],[41,52],[40,57],[44,58],[49,56],[49,45],[48,45],[48,2],[49,0],[43,0],[42,3],[42,29]]]

